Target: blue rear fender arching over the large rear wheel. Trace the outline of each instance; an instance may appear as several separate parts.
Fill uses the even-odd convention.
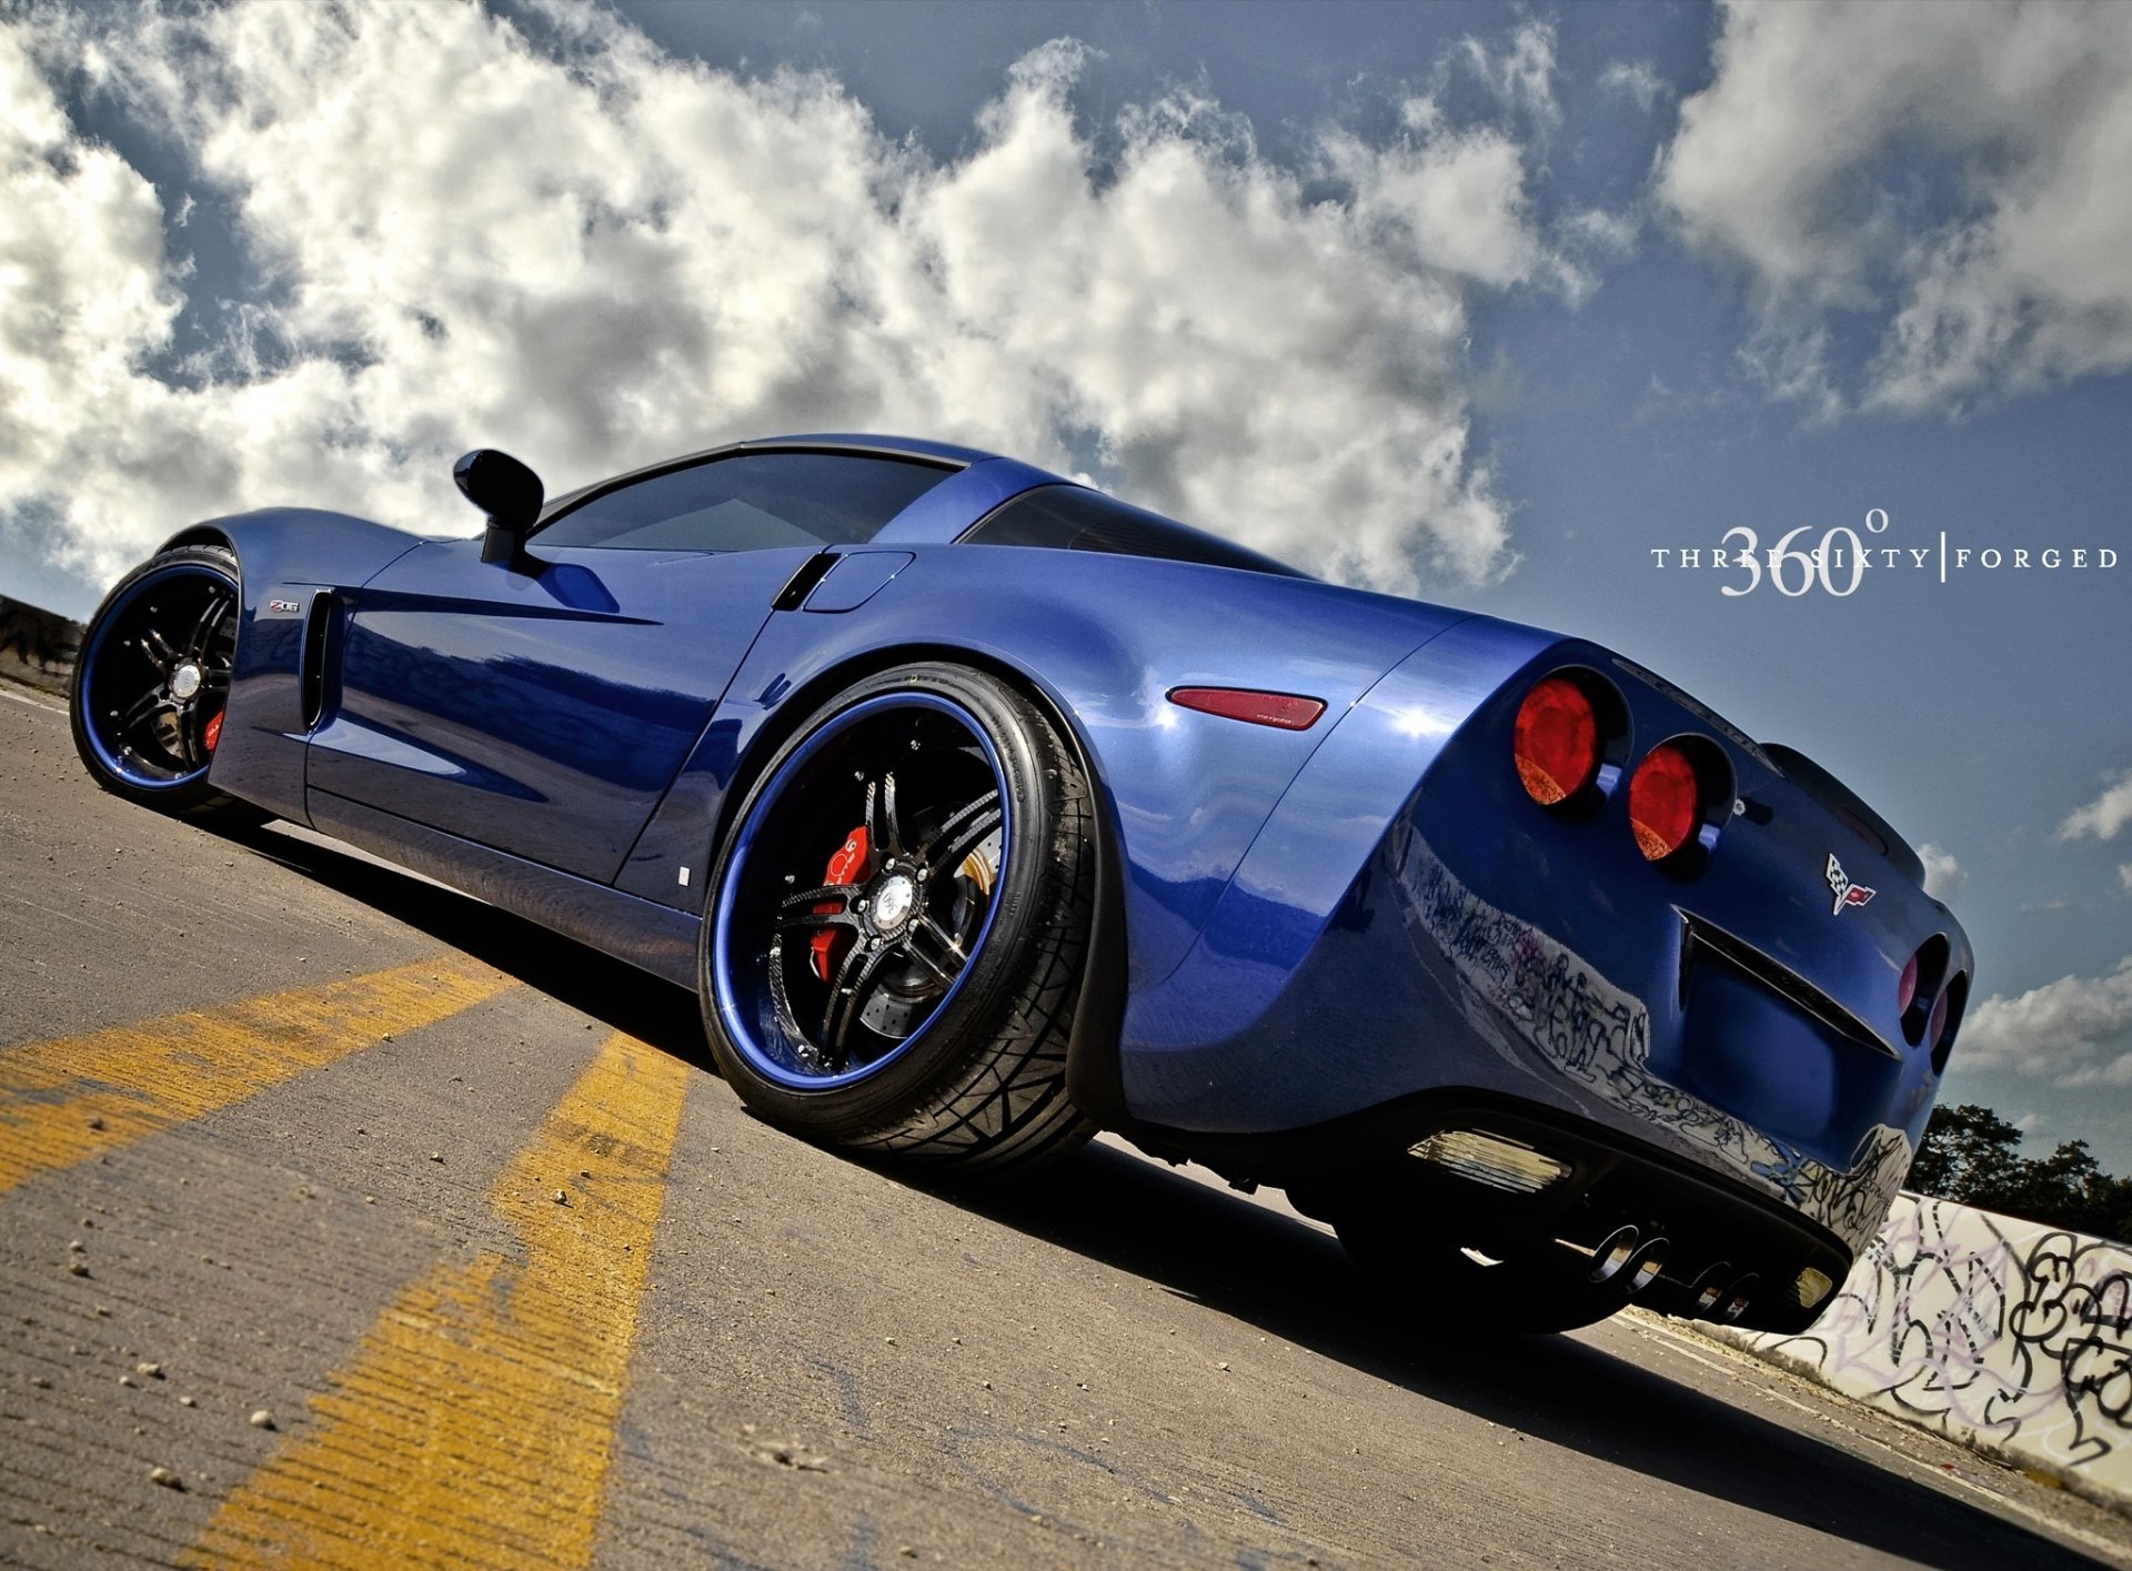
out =
[[[1011,671],[1075,731],[1117,836],[1128,981],[1183,957],[1281,791],[1369,686],[1460,618],[1411,601],[1194,563],[912,546],[855,612],[778,612],[625,863],[618,887],[701,910],[736,787],[842,676],[902,659]],[[1177,686],[1307,693],[1307,731],[1222,720]],[[787,708],[791,706],[791,708]]]

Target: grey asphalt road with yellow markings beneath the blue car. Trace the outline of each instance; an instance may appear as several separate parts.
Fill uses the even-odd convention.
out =
[[[2132,1524],[1650,1317],[1445,1339],[1119,1149],[930,1189],[693,1000],[0,689],[0,1560],[2132,1565]]]

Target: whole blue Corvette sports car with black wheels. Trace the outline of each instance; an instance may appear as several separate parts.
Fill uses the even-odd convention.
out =
[[[96,780],[695,989],[810,1138],[1279,1185],[1411,1313],[1795,1330],[1878,1230],[1968,938],[1633,661],[930,441],[456,477],[480,539],[266,509],[124,578]]]

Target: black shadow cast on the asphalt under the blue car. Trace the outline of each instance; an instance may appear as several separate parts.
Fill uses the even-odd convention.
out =
[[[277,829],[249,851],[710,1070],[695,995],[520,917]],[[2083,1556],[1870,1458],[1578,1337],[1495,1337],[1369,1298],[1324,1232],[1156,1162],[1089,1147],[1043,1183],[912,1187],[1326,1358],[1684,1490],[1932,1567]]]

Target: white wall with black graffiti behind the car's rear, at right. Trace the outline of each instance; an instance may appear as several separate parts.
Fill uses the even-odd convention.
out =
[[[1904,1194],[1797,1337],[1735,1347],[2132,1507],[2132,1249]]]

